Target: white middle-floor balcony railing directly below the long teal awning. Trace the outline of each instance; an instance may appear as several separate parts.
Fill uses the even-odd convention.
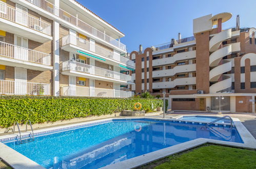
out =
[[[77,62],[74,60],[68,60],[62,63],[62,71],[66,71],[66,70],[89,73],[93,75],[99,75],[99,76],[109,77],[109,78],[118,79],[118,80],[130,81],[130,82],[133,81],[132,76],[122,74],[119,72],[114,72],[107,69],[102,69],[102,68],[91,66],[91,65],[82,64],[81,62]]]

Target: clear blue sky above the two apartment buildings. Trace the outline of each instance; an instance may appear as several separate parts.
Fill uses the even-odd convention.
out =
[[[77,0],[125,34],[121,42],[128,52],[177,38],[192,36],[193,19],[207,14],[231,12],[223,28],[235,26],[240,15],[241,27],[256,27],[256,1],[251,0]]]

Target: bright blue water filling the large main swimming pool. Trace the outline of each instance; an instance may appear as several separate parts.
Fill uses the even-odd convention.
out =
[[[243,143],[235,128],[118,119],[6,145],[46,168],[99,168],[196,138]]]

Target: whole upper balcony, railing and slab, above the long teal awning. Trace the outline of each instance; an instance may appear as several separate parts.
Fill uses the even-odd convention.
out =
[[[81,51],[88,53],[86,57],[91,57],[90,55],[95,55],[101,57],[108,62],[110,65],[115,65],[119,67],[120,64],[124,66],[135,67],[134,62],[126,57],[121,56],[120,54],[114,53],[110,50],[107,50],[99,45],[92,44],[90,41],[76,37],[74,35],[67,35],[61,39],[62,49],[68,52],[73,52],[81,54]],[[80,52],[78,52],[79,50]]]

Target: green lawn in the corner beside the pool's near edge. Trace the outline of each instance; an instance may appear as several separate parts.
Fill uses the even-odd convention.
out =
[[[256,151],[207,145],[152,162],[142,168],[256,168]]]

